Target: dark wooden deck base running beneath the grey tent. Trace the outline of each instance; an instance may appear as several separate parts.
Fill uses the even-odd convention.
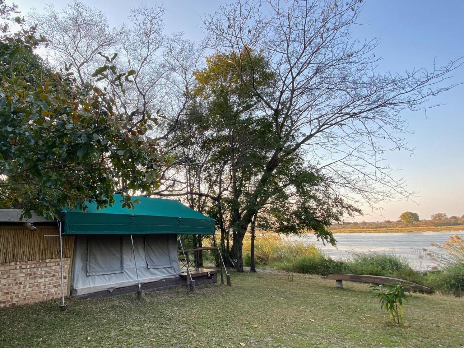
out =
[[[218,282],[218,270],[201,268],[200,272],[192,271],[192,278],[195,280],[195,285],[210,284]],[[148,282],[141,284],[142,290],[156,291],[156,290],[167,290],[170,288],[186,286],[187,287],[187,273],[180,274],[179,277],[166,278],[157,280],[155,282]],[[109,290],[92,292],[90,294],[83,294],[75,296],[78,299],[84,300],[86,298],[100,298],[110,297],[123,294],[135,294],[138,290],[137,285],[125,286],[122,288],[115,288],[112,292]]]

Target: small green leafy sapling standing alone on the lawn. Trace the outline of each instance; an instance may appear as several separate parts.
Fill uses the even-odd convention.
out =
[[[376,292],[375,297],[379,298],[380,309],[390,315],[390,319],[395,324],[400,325],[403,320],[403,302],[408,301],[406,291],[402,283],[372,285],[371,290]],[[405,326],[406,323],[405,323]]]

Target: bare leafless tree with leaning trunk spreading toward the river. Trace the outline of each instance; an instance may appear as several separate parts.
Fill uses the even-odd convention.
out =
[[[273,135],[257,184],[235,219],[238,270],[241,240],[267,202],[266,188],[298,154],[310,172],[346,199],[372,204],[409,195],[383,164],[382,154],[407,149],[401,111],[434,106],[427,101],[452,87],[443,82],[463,60],[434,65],[431,71],[380,74],[377,41],[351,37],[360,11],[359,0],[244,0],[204,18],[210,47],[232,58],[241,83],[258,100],[254,114],[268,122]],[[273,75],[264,91],[257,84],[260,65]]]

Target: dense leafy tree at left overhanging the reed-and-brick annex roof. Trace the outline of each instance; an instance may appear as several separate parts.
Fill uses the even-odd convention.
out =
[[[77,83],[69,66],[50,71],[33,53],[45,38],[20,17],[14,20],[21,30],[11,33],[7,23],[15,8],[0,0],[0,11],[6,21],[0,37],[0,206],[52,217],[62,206],[112,205],[113,194],[121,193],[123,205],[133,207],[129,193],[150,193],[165,163],[157,143],[144,136],[152,117],[117,113],[106,88]],[[133,72],[117,73],[112,65],[116,54],[103,58],[97,79],[116,86],[130,81]]]

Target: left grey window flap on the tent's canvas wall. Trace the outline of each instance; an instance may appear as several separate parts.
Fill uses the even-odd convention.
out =
[[[122,273],[122,238],[90,236],[87,248],[87,275]]]

